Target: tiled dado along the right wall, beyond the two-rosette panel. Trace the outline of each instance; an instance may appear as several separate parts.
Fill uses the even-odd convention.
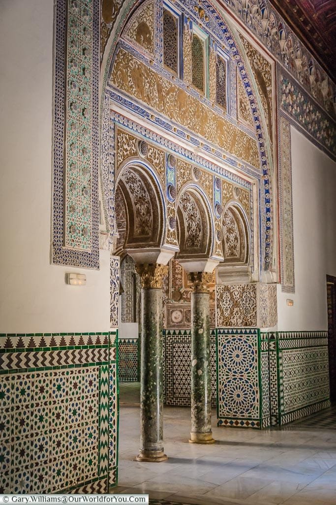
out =
[[[279,424],[330,405],[327,332],[278,332]]]

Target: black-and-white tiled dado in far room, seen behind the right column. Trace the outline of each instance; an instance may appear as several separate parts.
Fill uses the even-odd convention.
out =
[[[216,407],[216,332],[211,333],[211,390],[212,406]],[[164,330],[165,395],[167,405],[190,406],[190,330]]]

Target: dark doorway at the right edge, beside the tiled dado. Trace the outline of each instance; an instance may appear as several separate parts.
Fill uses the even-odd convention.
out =
[[[330,400],[336,402],[336,277],[326,276]]]

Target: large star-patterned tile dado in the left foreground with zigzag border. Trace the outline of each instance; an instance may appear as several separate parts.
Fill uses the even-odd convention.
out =
[[[0,492],[107,492],[116,469],[108,416],[110,409],[117,418],[114,340],[0,335]]]

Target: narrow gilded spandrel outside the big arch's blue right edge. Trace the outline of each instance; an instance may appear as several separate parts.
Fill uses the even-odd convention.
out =
[[[268,135],[272,142],[272,65],[242,35],[239,34],[239,37],[251,65],[267,123]]]

